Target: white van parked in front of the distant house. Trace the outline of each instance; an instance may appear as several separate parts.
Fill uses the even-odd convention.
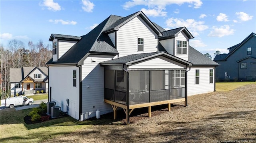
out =
[[[11,98],[5,99],[5,106],[13,108],[14,106],[18,105],[32,105],[34,102],[33,98],[27,98],[26,96],[16,96]]]

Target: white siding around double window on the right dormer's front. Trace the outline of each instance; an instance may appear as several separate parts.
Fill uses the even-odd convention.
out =
[[[180,32],[180,33],[178,33],[178,36],[177,37],[175,37],[175,52],[174,52],[174,54],[175,54],[175,56],[176,57],[179,57],[179,58],[181,58],[181,59],[184,59],[184,60],[186,60],[186,61],[188,61],[188,45],[189,45],[189,41],[188,41],[189,39],[188,39],[188,37],[186,36],[186,34],[182,31],[182,32]],[[178,54],[177,53],[177,41],[187,41],[187,48],[186,48],[186,54]],[[183,42],[181,43],[181,46],[182,46],[182,44],[183,44]],[[183,48],[182,48],[182,50],[183,50]],[[182,51],[183,52],[183,51]],[[183,52],[184,53],[184,52]]]

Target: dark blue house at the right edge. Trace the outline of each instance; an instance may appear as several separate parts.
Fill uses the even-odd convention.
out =
[[[228,54],[216,55],[217,80],[256,80],[256,33],[228,48]]]

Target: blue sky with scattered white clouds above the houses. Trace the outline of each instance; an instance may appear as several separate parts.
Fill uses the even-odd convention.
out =
[[[85,35],[111,14],[140,10],[166,30],[186,26],[195,37],[190,45],[212,56],[256,32],[255,0],[1,0],[0,43],[52,44],[52,33]]]

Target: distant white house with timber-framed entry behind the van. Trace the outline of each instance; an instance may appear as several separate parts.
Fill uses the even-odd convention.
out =
[[[46,67],[10,68],[11,95],[33,94],[44,90],[48,93],[48,69]]]

